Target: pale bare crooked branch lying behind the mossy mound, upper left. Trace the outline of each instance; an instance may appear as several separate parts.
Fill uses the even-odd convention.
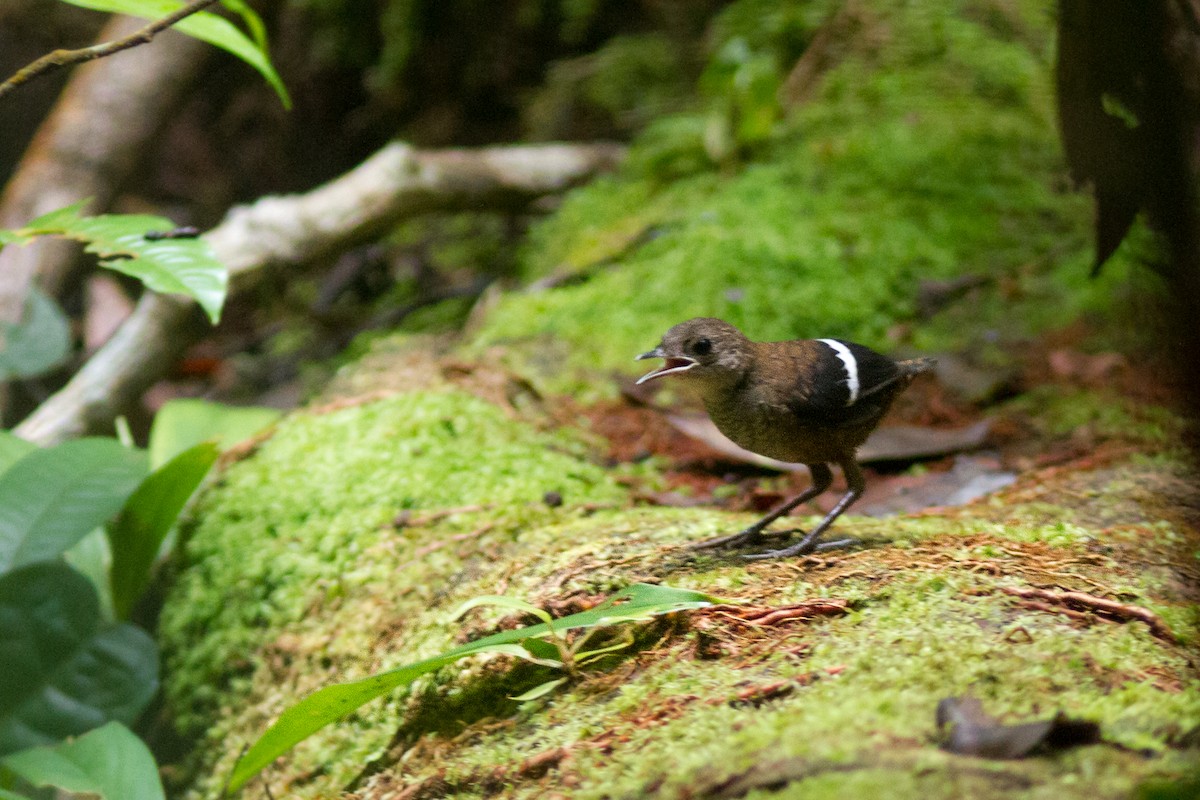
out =
[[[265,197],[233,209],[204,237],[229,267],[233,291],[269,265],[299,265],[433,211],[512,210],[614,167],[613,144],[414,150],[392,143],[305,194]],[[196,303],[148,291],[116,333],[14,433],[38,444],[106,429],[206,329]]]

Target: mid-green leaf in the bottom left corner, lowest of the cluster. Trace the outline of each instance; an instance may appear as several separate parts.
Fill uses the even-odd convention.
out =
[[[101,800],[164,796],[154,756],[120,722],[109,722],[54,747],[23,750],[0,763],[35,787],[95,794]]]

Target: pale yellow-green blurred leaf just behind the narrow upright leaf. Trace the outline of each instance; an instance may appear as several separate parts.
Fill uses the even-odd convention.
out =
[[[258,405],[222,405],[202,399],[163,403],[150,426],[150,464],[155,469],[202,441],[222,450],[248,439],[278,420],[281,413]]]

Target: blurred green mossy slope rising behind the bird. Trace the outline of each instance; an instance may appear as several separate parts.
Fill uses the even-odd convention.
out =
[[[475,344],[533,343],[522,357],[550,389],[592,392],[592,375],[632,372],[632,355],[694,315],[757,338],[890,348],[895,324],[916,320],[920,281],[985,275],[978,297],[913,335],[954,349],[1102,306],[1127,271],[1118,259],[1087,279],[1091,209],[1063,191],[1045,16],[1006,26],[968,2],[869,7],[864,25],[887,46],[856,40],[754,163],[670,184],[630,170],[570,196],[535,229],[524,276],[613,253],[620,269],[504,297]],[[649,139],[658,155],[635,146],[635,166],[664,160]]]

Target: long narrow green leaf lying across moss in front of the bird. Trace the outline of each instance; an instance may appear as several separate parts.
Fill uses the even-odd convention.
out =
[[[670,587],[654,587],[638,583],[618,591],[596,608],[554,620],[554,630],[568,631],[604,625],[606,613],[613,608],[638,608],[650,610],[652,613],[666,614],[689,608],[703,608],[714,602],[721,601],[712,595],[691,591],[690,589],[672,589]],[[258,741],[238,760],[229,778],[229,790],[234,792],[245,786],[264,766],[330,722],[350,714],[362,704],[386,694],[398,686],[410,684],[421,675],[439,669],[458,658],[486,651],[494,645],[518,643],[547,636],[551,632],[551,627],[545,622],[515,631],[502,631],[500,633],[464,644],[454,650],[448,650],[439,656],[426,658],[425,661],[404,664],[403,667],[397,667],[361,680],[334,684],[317,690],[283,711],[280,718],[275,721],[275,724],[268,728]]]

